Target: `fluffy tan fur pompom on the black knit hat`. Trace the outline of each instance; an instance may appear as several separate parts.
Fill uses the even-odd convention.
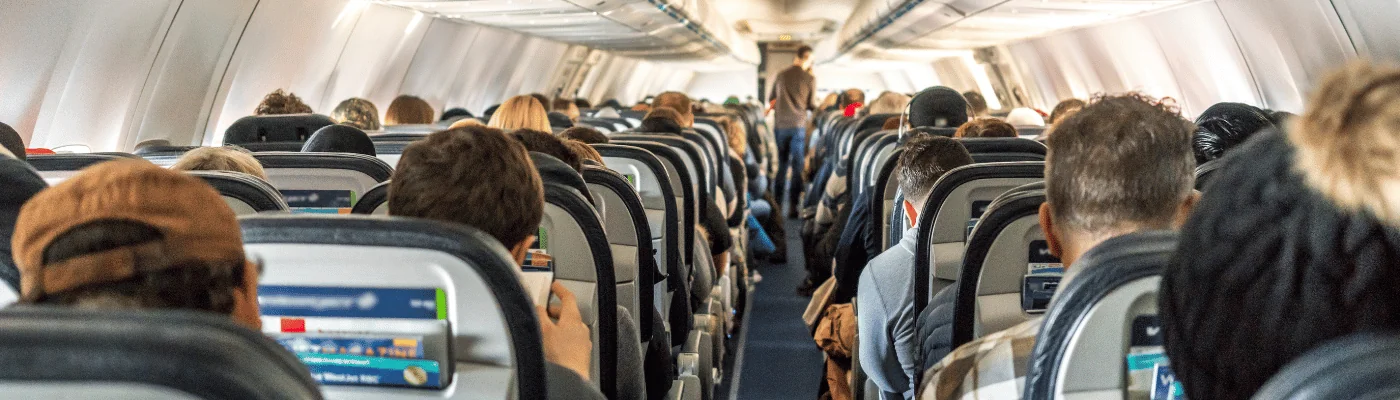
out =
[[[1357,62],[1333,73],[1295,117],[1295,171],[1344,210],[1400,225],[1400,67]]]

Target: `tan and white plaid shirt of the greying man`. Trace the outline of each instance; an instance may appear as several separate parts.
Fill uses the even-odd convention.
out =
[[[924,372],[920,400],[1021,399],[1042,317],[973,340]]]

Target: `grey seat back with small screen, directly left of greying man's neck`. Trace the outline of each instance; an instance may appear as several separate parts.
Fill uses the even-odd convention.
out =
[[[1064,276],[1040,229],[1044,183],[1011,189],[987,207],[967,241],[953,303],[956,348],[1044,312]]]

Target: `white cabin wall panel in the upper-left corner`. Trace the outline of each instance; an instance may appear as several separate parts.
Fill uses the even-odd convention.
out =
[[[141,87],[178,8],[179,1],[7,3],[4,14],[14,11],[17,20],[4,25],[14,22],[14,29],[21,32],[53,36],[29,43],[35,46],[7,45],[18,50],[6,53],[8,59],[34,55],[32,62],[14,66],[35,70],[0,73],[8,76],[0,81],[13,80],[22,99],[6,99],[13,103],[7,108],[21,115],[0,117],[20,120],[18,130],[28,134],[31,147],[87,144],[95,150],[115,150],[133,123]],[[43,27],[50,24],[67,27]],[[32,36],[20,34],[14,39]],[[11,90],[10,84],[0,85]]]

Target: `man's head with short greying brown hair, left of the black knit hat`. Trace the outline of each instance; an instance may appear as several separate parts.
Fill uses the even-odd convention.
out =
[[[1042,228],[1071,264],[1103,239],[1169,229],[1194,201],[1191,123],[1138,94],[1100,97],[1050,137]]]

